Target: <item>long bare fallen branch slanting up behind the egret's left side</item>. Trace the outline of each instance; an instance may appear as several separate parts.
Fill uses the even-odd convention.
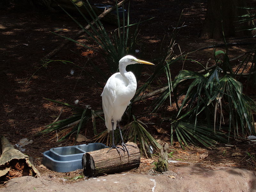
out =
[[[123,5],[126,1],[128,0],[123,0],[120,3],[117,4],[117,7],[120,7]],[[101,20],[103,17],[105,17],[108,13],[112,12],[113,10],[116,9],[116,6],[112,6],[109,9],[105,10],[102,12],[96,20]],[[94,21],[91,22],[91,25],[94,25]],[[85,29],[88,30],[91,28],[90,24],[86,25]],[[77,37],[81,36],[84,33],[84,29],[81,29],[78,31],[75,35],[71,36],[71,39],[76,39]],[[60,44],[59,47],[55,48],[52,52],[48,53],[46,56],[44,56],[43,60],[51,58],[53,55],[55,55],[58,51],[60,51],[68,42],[70,42],[68,39],[63,40],[63,43]]]

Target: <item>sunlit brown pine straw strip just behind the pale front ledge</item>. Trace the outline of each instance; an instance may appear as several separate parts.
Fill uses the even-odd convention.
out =
[[[162,141],[166,142],[168,137],[162,136]],[[59,144],[59,143],[58,143]],[[256,142],[249,142],[249,141],[241,141],[237,143],[233,143],[233,146],[227,146],[224,144],[218,145],[216,149],[205,149],[199,148],[194,146],[186,147],[186,150],[182,148],[176,148],[170,146],[169,144],[169,151],[168,153],[172,153],[172,157],[169,160],[175,160],[179,163],[169,163],[169,170],[175,170],[177,167],[180,166],[188,166],[188,165],[195,165],[201,167],[208,167],[214,169],[215,167],[236,167],[236,168],[244,168],[249,170],[256,170],[255,166],[255,159],[248,156],[250,153],[254,157],[255,154],[255,147]],[[49,146],[50,147],[50,146]],[[51,146],[56,147],[56,146]],[[33,147],[35,148],[35,146]],[[31,149],[30,149],[31,151]],[[206,158],[201,158],[202,154],[208,153]],[[238,153],[238,156],[231,156],[233,153]],[[77,182],[82,181],[86,178],[79,178],[75,180],[75,178],[79,175],[83,175],[82,170],[76,170],[73,172],[61,173],[61,172],[54,172],[48,168],[41,168],[39,167],[42,163],[42,155],[36,151],[34,151],[33,156],[37,158],[34,159],[36,168],[43,176],[47,177],[55,177],[60,180],[60,182]],[[128,170],[122,173],[138,173],[138,174],[154,174],[156,173],[154,170],[154,162],[158,161],[158,156],[153,155],[152,158],[153,163],[140,163],[139,168]],[[159,174],[159,173],[157,173]]]

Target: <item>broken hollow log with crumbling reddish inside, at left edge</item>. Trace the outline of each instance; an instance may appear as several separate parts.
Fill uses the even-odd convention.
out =
[[[14,177],[35,176],[40,173],[28,160],[28,156],[15,149],[12,144],[0,135],[2,154],[0,157],[0,181],[6,181]]]

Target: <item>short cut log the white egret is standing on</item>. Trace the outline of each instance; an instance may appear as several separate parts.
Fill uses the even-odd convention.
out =
[[[127,146],[130,156],[121,149],[119,150],[123,156],[120,156],[116,149],[111,149],[107,153],[108,148],[85,153],[82,157],[84,175],[95,177],[138,168],[140,166],[140,150],[135,143],[128,142],[126,144],[137,147]]]

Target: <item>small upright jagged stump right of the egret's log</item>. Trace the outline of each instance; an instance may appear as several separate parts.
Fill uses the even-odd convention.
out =
[[[168,143],[164,143],[163,148],[159,156],[158,162],[156,162],[155,170],[158,172],[168,171]]]

